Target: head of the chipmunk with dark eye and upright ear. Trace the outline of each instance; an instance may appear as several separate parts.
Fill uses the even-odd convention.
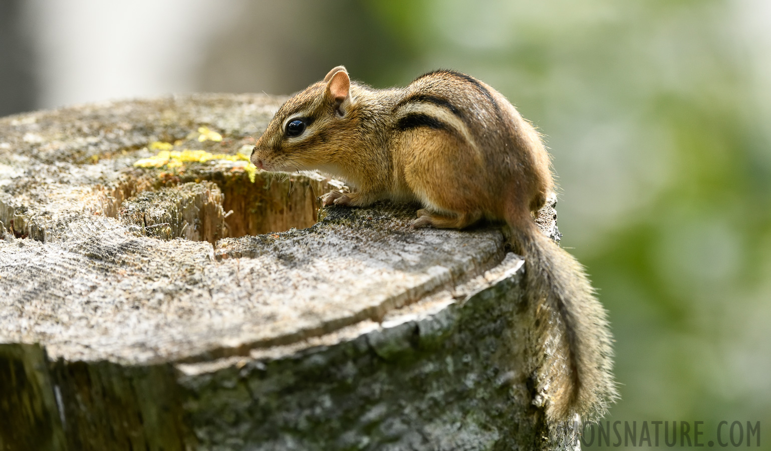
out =
[[[278,109],[251,153],[263,170],[321,169],[334,173],[355,131],[355,100],[345,67],[329,71]]]

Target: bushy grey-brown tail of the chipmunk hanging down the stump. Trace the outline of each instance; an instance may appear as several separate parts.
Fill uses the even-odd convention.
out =
[[[512,245],[525,258],[527,301],[536,315],[537,378],[547,395],[547,416],[598,419],[618,397],[608,315],[571,254],[541,233],[529,215],[510,219]]]

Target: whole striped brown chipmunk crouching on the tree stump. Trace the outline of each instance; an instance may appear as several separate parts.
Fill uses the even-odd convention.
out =
[[[278,109],[251,162],[269,171],[320,170],[355,190],[325,194],[325,207],[417,201],[424,208],[412,227],[505,221],[539,315],[537,380],[547,417],[596,419],[617,397],[606,312],[581,264],[534,221],[554,191],[550,157],[495,89],[450,70],[406,88],[372,89],[338,66]]]

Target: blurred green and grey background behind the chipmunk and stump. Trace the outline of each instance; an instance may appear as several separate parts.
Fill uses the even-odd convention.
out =
[[[158,72],[161,81],[120,96],[286,94],[338,64],[375,87],[450,68],[500,90],[546,136],[563,245],[610,311],[622,399],[607,419],[703,420],[704,441],[721,420],[759,421],[769,447],[771,2],[160,3],[176,5],[174,14],[138,2],[127,8],[144,22],[109,28],[152,35],[161,47],[182,33],[174,30],[200,35],[167,52],[176,60],[151,59],[143,44],[136,54],[147,59],[133,61],[130,76]],[[54,92],[51,73],[82,72],[72,79],[89,83],[99,60],[89,71],[72,67],[79,60],[66,52],[82,46],[57,48],[56,27],[35,27],[75,29],[86,20],[78,11],[105,7],[66,3],[63,19],[46,22],[49,6],[31,5],[20,17],[31,24],[25,32],[43,36],[32,39],[39,58],[29,63],[43,76],[30,108],[98,99]],[[178,79],[162,78],[171,71],[163,64],[182,62]]]

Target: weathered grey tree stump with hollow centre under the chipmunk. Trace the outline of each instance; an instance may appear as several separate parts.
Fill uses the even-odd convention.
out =
[[[500,231],[319,217],[236,155],[281,100],[0,119],[0,449],[574,449]]]

